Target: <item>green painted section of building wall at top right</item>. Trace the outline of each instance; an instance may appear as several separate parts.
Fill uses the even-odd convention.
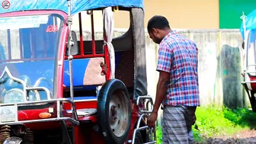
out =
[[[219,28],[239,28],[242,11],[245,15],[256,9],[256,0],[219,0]]]

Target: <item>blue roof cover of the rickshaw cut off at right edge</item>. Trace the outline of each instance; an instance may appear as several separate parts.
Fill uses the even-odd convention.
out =
[[[256,9],[254,11],[251,11],[251,13],[249,13],[246,16],[245,27],[246,27],[246,30],[256,30]],[[243,23],[241,24],[240,32],[242,34],[242,38],[245,39]]]

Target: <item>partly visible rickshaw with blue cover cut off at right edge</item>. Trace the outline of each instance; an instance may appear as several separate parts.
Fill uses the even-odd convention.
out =
[[[244,81],[242,85],[248,94],[251,109],[256,112],[256,10],[251,11],[247,16],[243,13],[241,16],[242,24],[240,32],[244,42],[244,72],[242,73]]]

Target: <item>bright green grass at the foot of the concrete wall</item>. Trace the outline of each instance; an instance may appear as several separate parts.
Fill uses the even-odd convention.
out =
[[[197,107],[196,125],[194,139],[197,142],[203,142],[205,138],[214,136],[231,136],[242,130],[256,128],[256,114],[247,108],[231,110],[226,107]],[[162,143],[162,130],[158,126],[157,143]]]

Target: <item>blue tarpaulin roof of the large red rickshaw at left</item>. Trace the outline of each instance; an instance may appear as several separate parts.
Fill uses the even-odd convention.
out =
[[[67,0],[8,0],[8,8],[0,8],[0,14],[29,10],[60,10],[68,14]],[[143,0],[71,0],[71,15],[97,8],[119,6],[123,8],[144,8]],[[2,6],[6,3],[2,3]]]

